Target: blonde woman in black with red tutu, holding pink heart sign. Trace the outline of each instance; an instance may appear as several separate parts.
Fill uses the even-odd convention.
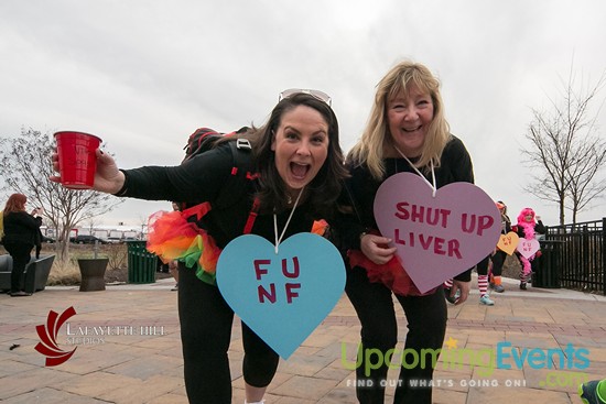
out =
[[[446,303],[442,286],[421,294],[396,258],[390,239],[379,233],[374,216],[377,189],[389,176],[414,173],[436,187],[454,182],[473,183],[472,160],[463,142],[450,133],[444,118],[440,83],[421,64],[403,62],[378,84],[369,121],[361,139],[347,156],[351,175],[346,181],[343,216],[335,221],[340,248],[348,251],[346,292],[361,323],[361,348],[383,353],[398,340],[393,295],[408,320],[405,349],[435,352],[446,330]],[[469,294],[470,271],[455,277],[457,304]],[[365,354],[356,370],[356,394],[360,403],[383,403],[389,363],[367,368]],[[428,353],[420,361],[432,363]],[[402,367],[394,403],[424,404],[432,401],[433,365]],[[381,385],[381,381],[383,384]],[[412,383],[425,383],[414,387]]]

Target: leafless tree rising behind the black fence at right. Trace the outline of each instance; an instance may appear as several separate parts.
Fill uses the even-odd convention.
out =
[[[597,110],[591,108],[606,85],[606,75],[593,86],[584,87],[581,81],[576,87],[571,67],[561,99],[550,98],[549,111],[532,109],[533,120],[526,134],[531,146],[521,151],[526,163],[537,168],[531,171],[524,189],[539,199],[556,203],[560,225],[564,225],[566,209],[576,222],[577,214],[606,189],[606,182],[598,175],[606,164],[606,143],[596,127],[604,101]]]

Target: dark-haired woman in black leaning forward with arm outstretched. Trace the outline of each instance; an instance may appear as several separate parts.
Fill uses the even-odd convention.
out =
[[[234,196],[227,208],[216,206],[204,215],[201,259],[195,267],[183,261],[178,264],[181,338],[191,403],[231,403],[227,350],[234,312],[215,285],[214,265],[220,250],[244,233],[251,216],[250,233],[271,242],[278,239],[275,227],[285,229],[283,237],[311,231],[314,219],[331,217],[346,176],[329,97],[295,90],[280,98],[264,125],[223,138],[214,149],[180,166],[118,170],[109,155],[97,151],[94,189],[140,199],[180,200],[186,203],[187,212],[196,204],[213,206],[221,196],[234,175],[236,152],[229,143],[250,145],[246,155],[251,175],[247,173],[247,177],[253,179],[242,182],[245,195]],[[58,168],[57,156],[53,159]],[[238,167],[237,172],[241,171]],[[178,215],[170,212],[174,214]],[[261,403],[279,357],[244,323],[242,342],[246,400]]]

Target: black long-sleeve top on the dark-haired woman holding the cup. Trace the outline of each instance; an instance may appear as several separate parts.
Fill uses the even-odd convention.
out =
[[[244,152],[242,152],[244,153]],[[250,162],[252,153],[250,153]],[[252,165],[252,164],[250,164]],[[125,170],[126,182],[117,196],[127,196],[147,200],[178,200],[188,206],[209,201],[213,209],[203,218],[203,223],[217,247],[225,248],[229,241],[242,234],[246,221],[252,208],[256,193],[255,181],[245,179],[242,167],[238,167],[238,186],[246,189],[234,195],[229,204],[215,204],[232,177],[234,155],[229,144],[224,144],[195,156],[178,166],[145,166]],[[241,185],[240,185],[241,184]],[[278,232],[281,233],[290,210],[278,214]],[[313,218],[309,214],[309,204],[300,204],[289,223],[284,239],[303,231],[311,231]],[[260,212],[251,233],[275,242],[273,215]],[[279,234],[280,236],[280,234]]]

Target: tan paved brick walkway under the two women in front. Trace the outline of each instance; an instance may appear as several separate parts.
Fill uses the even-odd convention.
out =
[[[163,280],[104,292],[47,287],[31,297],[0,295],[0,401],[186,403],[172,286],[172,280]],[[493,307],[478,305],[477,288],[464,305],[448,307],[434,402],[581,403],[577,383],[606,376],[606,298],[565,290],[522,292],[513,281],[506,288],[494,294]],[[34,350],[40,342],[35,327],[46,323],[50,310],[61,314],[71,306],[76,315],[57,331],[57,342],[62,350],[76,351],[63,364],[45,367],[44,356]],[[400,323],[402,340],[403,316]],[[100,326],[119,335],[95,335]],[[356,403],[354,371],[343,362],[355,361],[358,340],[359,324],[344,296],[303,346],[281,361],[267,403]],[[554,349],[566,352],[562,363]],[[500,369],[491,369],[486,364],[497,351],[507,357]],[[236,325],[234,403],[244,403],[241,357]],[[586,369],[574,368],[587,359]],[[390,381],[396,380],[396,370],[390,371]],[[388,387],[386,402],[392,391]]]

